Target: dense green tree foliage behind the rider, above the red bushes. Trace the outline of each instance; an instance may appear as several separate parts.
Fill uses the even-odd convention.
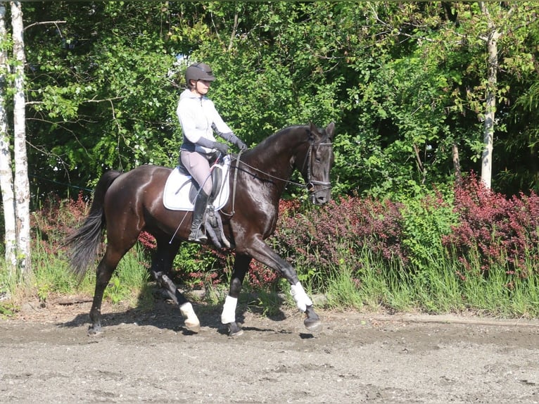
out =
[[[488,4],[490,17],[474,2],[25,5],[33,191],[65,196],[65,184],[91,187],[109,168],[175,165],[175,107],[192,61],[213,66],[210,96],[248,144],[335,121],[336,194],[450,183],[454,148],[464,172],[481,158],[488,18],[502,33],[495,187],[536,187],[537,10],[524,1]]]

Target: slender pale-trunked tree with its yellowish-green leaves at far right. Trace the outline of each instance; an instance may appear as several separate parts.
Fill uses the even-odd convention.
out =
[[[459,11],[459,29],[455,34],[465,39],[467,48],[476,54],[467,71],[480,72],[465,98],[483,122],[481,180],[490,188],[493,177],[507,176],[507,165],[495,175],[493,164],[497,160],[507,161],[504,155],[512,154],[507,146],[519,138],[518,130],[508,132],[509,106],[514,102],[512,94],[521,91],[517,85],[519,77],[534,70],[534,56],[526,42],[533,31],[530,28],[537,22],[537,5],[528,1],[478,1],[459,6]],[[493,153],[495,139],[497,152]],[[509,160],[514,160],[514,156]],[[520,164],[516,163],[514,169],[519,170]]]

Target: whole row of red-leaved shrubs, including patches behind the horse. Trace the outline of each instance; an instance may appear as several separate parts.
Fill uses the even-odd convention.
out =
[[[316,272],[322,283],[332,267],[344,264],[353,271],[361,270],[360,258],[365,251],[385,261],[383,265],[396,262],[402,270],[417,271],[421,263],[424,267],[431,264],[432,248],[445,248],[438,256],[445,254],[451,262],[460,263],[457,274],[462,279],[488,275],[493,267],[505,269],[509,277],[538,274],[539,196],[531,193],[506,198],[486,189],[471,175],[447,199],[437,194],[419,203],[417,198],[397,203],[342,196],[322,207],[281,201],[277,230],[268,243],[292,265]],[[88,208],[82,195],[74,201],[47,203],[32,217],[32,228],[39,234],[36,241],[44,251],[56,251],[63,236],[82,223]],[[429,217],[439,220],[430,225]],[[455,218],[457,225],[436,226],[455,223]],[[141,233],[139,241],[148,253],[156,248],[150,234]],[[232,270],[229,253],[208,246],[181,250],[179,267],[173,268],[177,282],[194,287],[224,282],[227,271]],[[144,265],[149,264],[148,254]],[[246,280],[251,286],[267,287],[278,277],[253,260]]]

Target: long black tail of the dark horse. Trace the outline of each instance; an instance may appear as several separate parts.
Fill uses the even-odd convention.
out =
[[[69,246],[68,258],[73,273],[82,279],[88,270],[89,264],[97,255],[99,244],[106,227],[104,202],[105,194],[110,184],[120,176],[121,172],[110,170],[103,174],[94,191],[94,200],[90,212],[81,227],[68,236],[63,245]]]

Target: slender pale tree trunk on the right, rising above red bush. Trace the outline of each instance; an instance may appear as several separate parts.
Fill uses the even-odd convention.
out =
[[[494,122],[496,113],[496,89],[497,89],[497,39],[500,37],[500,32],[496,30],[493,20],[490,18],[490,13],[486,4],[481,1],[479,3],[481,11],[488,18],[488,33],[487,37],[483,38],[486,41],[488,52],[488,78],[486,87],[486,109],[485,109],[485,125],[483,130],[483,143],[485,149],[481,156],[481,180],[487,188],[492,186],[492,160],[493,160],[493,144],[494,144]]]

